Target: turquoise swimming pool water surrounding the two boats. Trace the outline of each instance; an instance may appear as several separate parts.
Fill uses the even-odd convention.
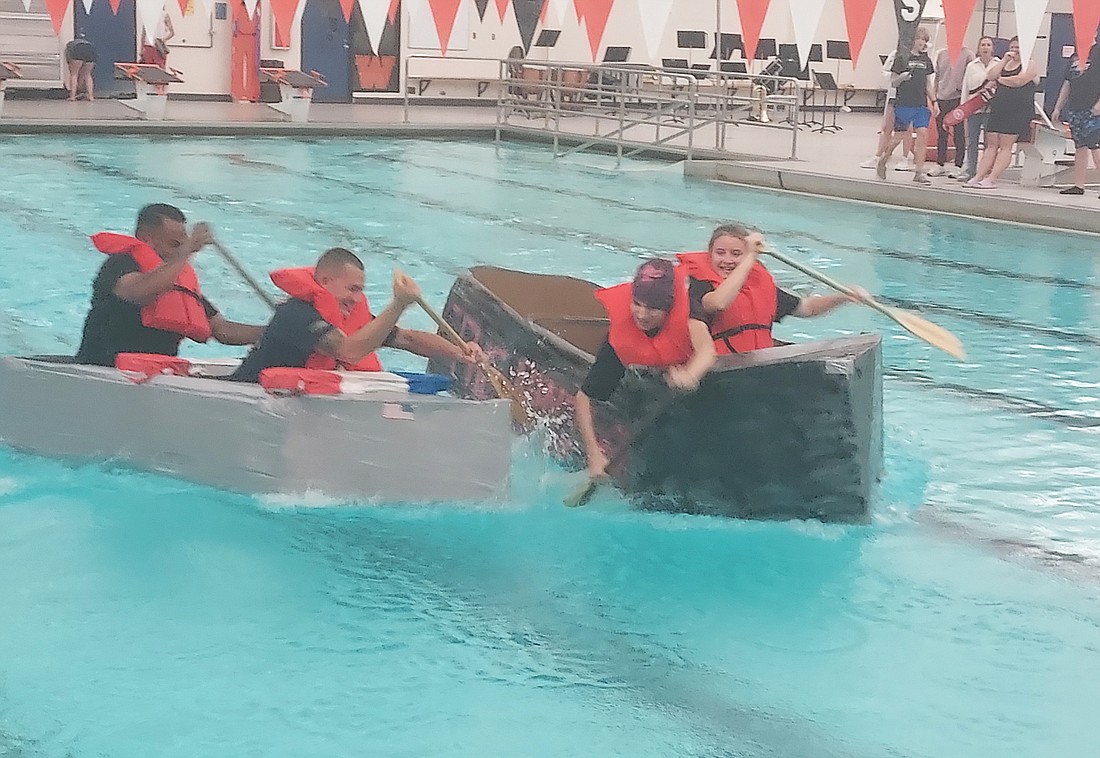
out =
[[[864,527],[610,494],[566,510],[575,480],[526,443],[503,509],[249,498],[0,448],[0,755],[1094,752],[1096,238],[537,146],[13,138],[0,351],[73,350],[101,262],[87,234],[150,201],[211,221],[255,272],[343,244],[372,297],[399,264],[437,305],[474,263],[610,283],[746,220],[922,304],[970,362],[869,309],[780,328],[886,334],[888,473]],[[227,315],[263,318],[216,255],[198,265]]]

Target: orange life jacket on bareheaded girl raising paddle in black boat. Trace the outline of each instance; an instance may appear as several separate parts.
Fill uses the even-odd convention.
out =
[[[725,281],[711,265],[711,253],[680,253],[676,257],[693,279],[710,282],[715,287]],[[771,325],[777,307],[776,279],[757,261],[737,297],[711,322],[715,351],[728,355],[773,347]]]

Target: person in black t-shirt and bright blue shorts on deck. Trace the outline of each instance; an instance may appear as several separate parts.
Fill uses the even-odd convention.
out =
[[[928,144],[928,123],[936,111],[936,92],[932,86],[932,58],[927,54],[928,30],[921,26],[913,40],[913,51],[908,57],[897,56],[891,67],[891,85],[898,88],[894,98],[894,133],[890,145],[879,158],[876,167],[879,178],[887,178],[887,161],[911,129],[916,130],[916,145],[913,147],[913,182],[932,184],[924,173],[924,158]]]

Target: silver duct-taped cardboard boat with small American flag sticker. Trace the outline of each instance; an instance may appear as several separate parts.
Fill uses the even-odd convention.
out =
[[[65,358],[2,356],[0,440],[245,493],[381,502],[507,496],[514,433],[504,400],[399,388],[273,396],[217,378],[227,362],[194,366],[207,375],[139,384]]]

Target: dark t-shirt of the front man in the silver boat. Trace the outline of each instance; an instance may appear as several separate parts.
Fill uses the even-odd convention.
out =
[[[258,382],[260,372],[272,366],[302,369],[317,350],[317,344],[336,329],[317,308],[290,299],[275,308],[271,323],[260,343],[229,378],[234,382]]]

